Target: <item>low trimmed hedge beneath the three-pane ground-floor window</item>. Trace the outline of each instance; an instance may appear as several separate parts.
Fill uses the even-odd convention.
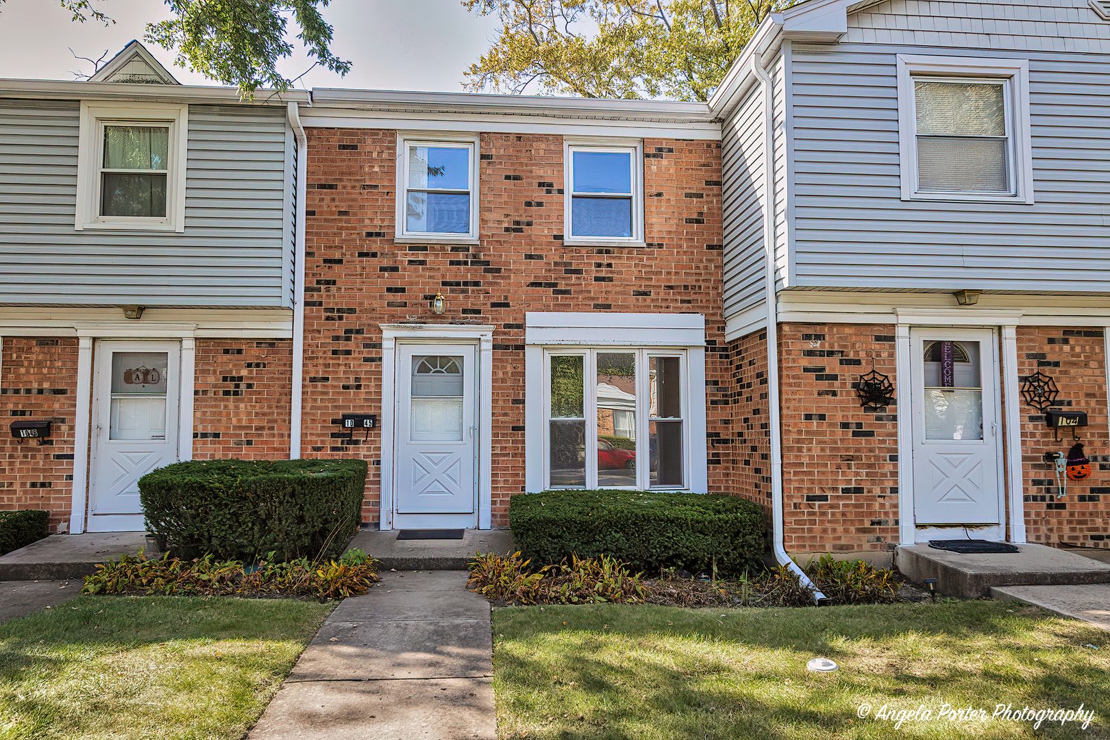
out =
[[[638,490],[517,494],[508,524],[516,548],[538,565],[608,555],[635,570],[718,574],[755,565],[766,547],[764,513],[736,496]]]

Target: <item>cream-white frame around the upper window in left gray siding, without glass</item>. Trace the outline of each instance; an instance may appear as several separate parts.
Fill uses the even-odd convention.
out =
[[[167,125],[165,216],[100,214],[105,125]],[[78,138],[77,216],[73,227],[112,231],[185,230],[185,168],[189,161],[189,105],[169,103],[81,103]]]

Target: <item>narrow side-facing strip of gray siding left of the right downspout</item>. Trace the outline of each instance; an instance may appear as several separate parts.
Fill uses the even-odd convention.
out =
[[[763,301],[763,120],[757,85],[722,132],[726,318]]]

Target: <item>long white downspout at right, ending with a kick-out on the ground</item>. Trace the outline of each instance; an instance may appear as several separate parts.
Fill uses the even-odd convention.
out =
[[[775,98],[770,75],[763,68],[759,51],[751,54],[751,71],[764,93],[764,301],[767,304],[767,406],[770,436],[771,546],[775,560],[789,568],[814,594],[818,606],[828,604],[817,585],[809,580],[784,547],[783,527],[783,427],[778,387],[778,311],[775,294]]]

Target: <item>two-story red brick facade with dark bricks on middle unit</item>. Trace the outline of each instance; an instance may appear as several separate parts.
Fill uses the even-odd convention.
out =
[[[473,322],[494,332],[493,511],[524,489],[526,311],[702,313],[708,432],[728,407],[722,316],[720,145],[646,140],[645,247],[563,242],[563,140],[482,134],[480,244],[395,244],[396,132],[310,129],[304,455],[371,462],[363,518],[379,520],[381,435],[341,432],[344,413],[381,414],[380,324]],[[446,313],[428,302],[437,291]],[[709,438],[709,487],[728,457]]]

